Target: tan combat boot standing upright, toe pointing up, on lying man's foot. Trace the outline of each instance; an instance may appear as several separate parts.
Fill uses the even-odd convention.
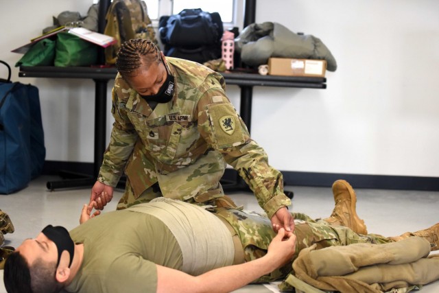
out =
[[[358,218],[355,206],[357,196],[352,186],[345,180],[337,180],[332,185],[335,208],[331,217],[323,219],[333,226],[345,226],[351,228],[355,233],[366,235],[368,230],[364,221]]]

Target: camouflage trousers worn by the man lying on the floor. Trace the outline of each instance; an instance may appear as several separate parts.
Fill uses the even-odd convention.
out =
[[[217,215],[226,219],[235,228],[244,248],[244,259],[251,261],[263,257],[268,245],[276,233],[272,230],[270,219],[264,214],[240,211],[237,209],[216,209]],[[392,240],[381,235],[359,235],[344,226],[330,226],[323,220],[315,221],[302,213],[292,213],[296,220],[297,237],[294,258],[285,266],[255,280],[253,283],[264,283],[283,279],[292,271],[292,262],[303,248],[316,243],[318,248],[328,246],[346,246],[354,243],[383,244]]]

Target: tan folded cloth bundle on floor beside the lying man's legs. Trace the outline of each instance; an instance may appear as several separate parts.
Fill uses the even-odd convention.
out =
[[[315,248],[300,251],[293,269],[295,277],[320,290],[378,293],[439,279],[439,255],[428,257],[430,244],[420,237]]]

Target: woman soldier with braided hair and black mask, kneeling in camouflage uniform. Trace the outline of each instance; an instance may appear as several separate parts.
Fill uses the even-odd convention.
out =
[[[165,58],[149,40],[122,45],[112,90],[115,123],[91,192],[103,209],[126,173],[117,209],[163,196],[198,204],[224,199],[219,180],[229,164],[246,180],[273,224],[294,220],[283,177],[226,96],[224,78],[198,63]],[[107,197],[101,197],[106,191]],[[219,204],[221,205],[221,204]],[[223,204],[224,205],[224,204]]]

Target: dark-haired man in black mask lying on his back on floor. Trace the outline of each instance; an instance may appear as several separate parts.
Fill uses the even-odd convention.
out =
[[[263,215],[204,209],[165,198],[97,217],[91,215],[93,206],[84,206],[82,224],[70,233],[60,226],[47,226],[8,257],[5,287],[20,293],[62,288],[93,293],[230,292],[252,282],[285,279],[299,251],[314,244],[324,248],[316,252],[329,246],[355,247],[353,243],[380,244],[384,249],[416,235],[420,237],[410,237],[416,241],[407,242],[408,250],[425,257],[430,248],[437,249],[439,224],[394,238],[366,235],[351,185],[337,180],[333,193],[336,204],[329,218],[313,221],[296,213],[296,229],[290,235],[279,227],[276,235]],[[403,249],[396,250],[405,255],[407,247]],[[401,259],[397,254],[394,257]],[[439,272],[439,260],[434,270]],[[401,273],[398,277],[420,284],[439,276],[414,279]]]

